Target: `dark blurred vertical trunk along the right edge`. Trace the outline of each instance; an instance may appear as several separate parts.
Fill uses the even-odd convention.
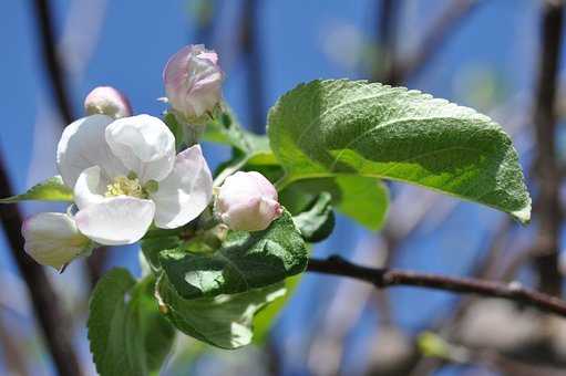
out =
[[[541,61],[535,94],[535,159],[539,194],[535,205],[539,226],[534,261],[543,292],[559,296],[558,271],[560,212],[560,171],[556,158],[556,93],[562,45],[564,3],[547,1],[542,11]]]

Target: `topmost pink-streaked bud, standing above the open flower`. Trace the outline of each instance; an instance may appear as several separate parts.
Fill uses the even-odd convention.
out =
[[[189,121],[200,117],[220,102],[223,76],[216,52],[204,44],[184,46],[163,71],[169,105]]]

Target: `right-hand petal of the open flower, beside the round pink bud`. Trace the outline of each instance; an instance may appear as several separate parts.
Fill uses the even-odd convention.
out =
[[[151,195],[155,201],[155,226],[174,229],[188,223],[210,202],[213,177],[199,145],[179,153],[169,176]]]

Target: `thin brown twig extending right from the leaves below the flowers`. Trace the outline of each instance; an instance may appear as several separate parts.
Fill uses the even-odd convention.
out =
[[[369,282],[378,289],[390,286],[416,286],[450,291],[454,293],[470,293],[482,296],[503,297],[566,317],[565,301],[523,288],[518,283],[506,284],[495,281],[453,278],[388,268],[367,268],[351,263],[337,255],[332,255],[327,260],[310,259],[307,270],[317,273],[350,276]]]

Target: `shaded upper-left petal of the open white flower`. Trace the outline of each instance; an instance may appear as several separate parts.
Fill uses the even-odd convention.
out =
[[[63,130],[56,148],[56,167],[70,188],[74,188],[79,175],[92,166],[100,166],[110,177],[127,174],[106,144],[104,130],[112,121],[106,115],[91,115]]]

